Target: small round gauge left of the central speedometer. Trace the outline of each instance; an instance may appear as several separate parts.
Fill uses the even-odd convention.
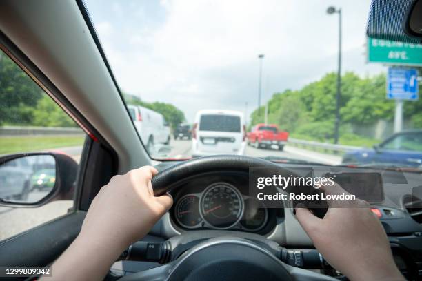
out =
[[[192,194],[183,196],[177,201],[175,210],[176,220],[182,227],[190,229],[198,227],[202,222],[197,196]]]

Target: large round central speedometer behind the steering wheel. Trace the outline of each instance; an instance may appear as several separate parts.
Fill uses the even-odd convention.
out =
[[[215,183],[203,191],[200,210],[203,220],[210,226],[228,229],[242,218],[243,198],[232,185]]]

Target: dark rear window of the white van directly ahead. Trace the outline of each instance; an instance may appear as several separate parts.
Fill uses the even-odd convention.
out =
[[[240,132],[241,121],[239,116],[204,114],[199,121],[200,131]]]

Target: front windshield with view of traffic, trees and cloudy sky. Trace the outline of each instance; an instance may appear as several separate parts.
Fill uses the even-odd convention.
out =
[[[370,2],[86,0],[151,158],[419,168],[422,45],[368,38]]]

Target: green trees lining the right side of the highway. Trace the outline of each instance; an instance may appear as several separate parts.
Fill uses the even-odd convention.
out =
[[[275,93],[268,101],[268,122],[279,125],[293,136],[316,141],[332,141],[336,110],[335,73],[325,74],[319,81],[305,85],[301,90]],[[421,86],[420,91],[421,92]],[[340,141],[348,140],[359,145],[374,143],[345,129],[350,124],[368,125],[380,119],[394,118],[394,101],[385,98],[385,74],[361,78],[353,72],[341,78]],[[422,128],[422,101],[406,102],[405,118],[410,118],[415,128]],[[263,123],[265,108],[251,114],[250,125]],[[349,126],[350,127],[350,126]],[[344,137],[343,137],[344,136]],[[347,136],[347,137],[345,137]]]

